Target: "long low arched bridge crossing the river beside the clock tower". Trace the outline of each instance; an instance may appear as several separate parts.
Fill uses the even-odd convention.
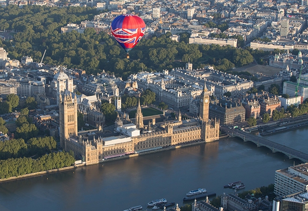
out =
[[[304,163],[308,162],[308,154],[297,151],[295,149],[291,149],[290,147],[286,147],[281,144],[277,144],[275,142],[271,142],[271,140],[267,140],[251,133],[241,131],[239,129],[229,128],[227,126],[221,126],[220,130],[228,134],[230,137],[240,137],[244,140],[244,142],[253,142],[257,145],[257,147],[264,146],[271,149],[274,153],[281,152],[287,155],[289,159],[299,159]]]

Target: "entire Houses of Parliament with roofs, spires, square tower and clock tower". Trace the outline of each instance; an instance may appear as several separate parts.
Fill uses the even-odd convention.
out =
[[[119,134],[117,136],[102,137],[96,134],[83,137],[77,127],[77,111],[76,95],[68,90],[60,91],[61,147],[65,151],[72,150],[77,158],[82,157],[86,165],[100,163],[112,157],[219,139],[219,121],[208,118],[209,91],[206,86],[200,97],[198,118],[182,120],[179,112],[176,121],[156,122],[156,119],[152,118],[144,125],[139,103],[135,119],[128,119],[127,116],[120,118],[118,115],[115,120],[115,130]]]

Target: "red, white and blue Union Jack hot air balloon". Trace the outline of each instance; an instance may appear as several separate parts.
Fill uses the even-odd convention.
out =
[[[124,48],[129,59],[131,50],[143,37],[145,23],[141,17],[133,14],[122,14],[112,21],[111,33],[115,40]]]

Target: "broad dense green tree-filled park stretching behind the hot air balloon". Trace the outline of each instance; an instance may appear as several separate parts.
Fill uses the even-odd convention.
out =
[[[213,65],[221,71],[253,62],[253,54],[243,48],[219,45],[188,44],[189,35],[181,34],[181,42],[172,41],[170,32],[142,39],[125,59],[125,51],[106,32],[86,28],[84,33],[61,33],[68,23],[92,20],[99,12],[88,7],[46,7],[9,5],[0,8],[0,29],[14,30],[11,41],[1,41],[11,59],[31,56],[40,61],[46,49],[44,63],[84,69],[87,74],[105,71],[115,76],[127,76],[139,71],[162,71],[182,67],[191,62],[195,68]],[[206,23],[213,25],[214,23]],[[219,24],[222,31],[226,23]],[[256,54],[256,50],[254,51]],[[263,54],[263,53],[260,53]]]

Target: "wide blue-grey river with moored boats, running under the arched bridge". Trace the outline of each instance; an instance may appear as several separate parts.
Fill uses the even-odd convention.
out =
[[[265,136],[308,153],[308,128]],[[186,192],[242,181],[246,188],[274,183],[275,170],[301,163],[240,138],[152,153],[0,183],[0,210],[124,210],[166,198],[183,205]],[[151,208],[147,208],[151,210]]]

